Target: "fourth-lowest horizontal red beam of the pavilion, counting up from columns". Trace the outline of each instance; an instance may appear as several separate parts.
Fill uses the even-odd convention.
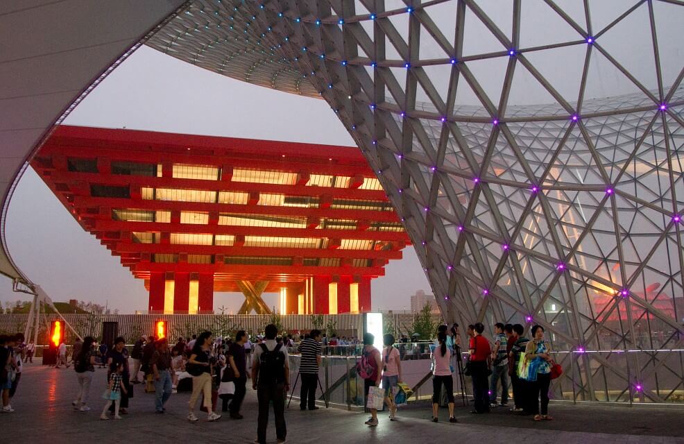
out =
[[[110,207],[151,211],[216,211],[230,214],[263,214],[268,216],[277,215],[296,217],[317,216],[320,218],[325,217],[330,219],[365,219],[373,222],[399,222],[399,218],[393,210],[332,210],[330,208],[273,207],[271,205],[232,205],[228,203],[176,202],[173,200],[131,200],[125,198],[104,198],[92,196],[74,196],[74,207],[77,209]]]

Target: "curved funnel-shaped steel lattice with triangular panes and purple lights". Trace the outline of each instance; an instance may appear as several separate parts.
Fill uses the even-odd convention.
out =
[[[573,399],[672,401],[684,5],[501,3],[198,0],[147,44],[330,103],[447,321],[543,325]]]

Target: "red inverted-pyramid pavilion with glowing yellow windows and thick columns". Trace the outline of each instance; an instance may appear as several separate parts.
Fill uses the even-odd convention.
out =
[[[31,166],[149,290],[149,311],[370,311],[409,237],[357,148],[59,126]]]

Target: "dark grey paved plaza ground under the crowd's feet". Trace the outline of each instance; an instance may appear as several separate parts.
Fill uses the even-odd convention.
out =
[[[218,422],[186,420],[189,393],[172,395],[164,415],[154,413],[153,395],[144,393],[142,384],[135,387],[130,413],[121,421],[101,421],[99,411],[104,401],[105,370],[98,369],[91,390],[92,411],[76,412],[71,400],[76,393],[73,368],[57,370],[37,364],[25,367],[21,386],[12,402],[15,413],[0,415],[0,427],[19,425],[16,437],[26,443],[168,443],[228,442],[250,443],[256,435],[256,398],[248,389],[244,420]],[[293,400],[286,413],[289,443],[409,443],[409,442],[486,442],[520,443],[684,443],[683,409],[654,407],[595,407],[552,404],[551,422],[533,422],[513,416],[504,409],[490,415],[472,416],[470,408],[456,404],[458,424],[446,422],[447,411],[441,410],[444,422],[429,421],[429,404],[411,404],[399,412],[400,419],[390,422],[380,414],[378,427],[366,427],[363,413],[340,409],[302,412]],[[268,442],[275,443],[275,427],[271,418]],[[0,442],[3,442],[0,439]],[[4,441],[9,442],[9,441]]]

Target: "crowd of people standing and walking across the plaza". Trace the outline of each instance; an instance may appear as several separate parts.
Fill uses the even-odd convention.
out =
[[[439,404],[445,393],[449,421],[456,422],[453,375],[457,369],[472,378],[474,409],[471,413],[482,414],[494,407],[508,407],[510,382],[513,389],[512,412],[532,415],[536,421],[552,420],[548,412],[551,346],[544,339],[543,327],[534,325],[530,332],[531,339],[528,339],[521,324],[496,323],[493,343],[490,343],[483,336],[482,323],[468,325],[468,352],[463,366],[459,325],[438,327],[436,339],[429,345],[433,382],[432,420],[438,422]],[[326,344],[327,348],[354,345],[356,339],[332,336],[329,340],[320,330],[314,329],[294,348],[296,343],[292,336],[280,337],[277,334],[277,327],[268,325],[264,336],[257,336],[253,343],[243,330],[232,338],[214,338],[211,332],[202,332],[191,338],[178,338],[175,345],[169,344],[166,338],[142,336],[135,341],[130,354],[123,337],[115,339],[112,349],[108,350],[105,344],[98,344],[87,336],[83,341],[77,339],[74,343],[71,361],[67,360],[65,343],[60,343],[56,348],[55,368],[68,368],[74,364],[78,391],[72,405],[78,411],[90,410],[89,393],[96,366],[108,369],[102,395],[106,401],[100,415],[102,420],[112,417],[119,420],[121,415],[126,415],[128,400],[134,395],[133,386],[142,383],[154,386],[157,413],[164,413],[173,393],[185,386],[191,391],[187,415],[190,422],[198,421],[196,404],[199,400],[200,411],[207,414],[207,421],[219,420],[224,412],[228,412],[232,419],[241,420],[241,405],[248,379],[251,379],[259,405],[255,443],[266,441],[271,405],[277,440],[284,443],[287,435],[284,404],[290,384],[288,350],[300,354],[300,409],[316,410],[318,372]],[[373,345],[373,334],[364,334],[360,342],[357,373],[364,379],[365,398],[371,390],[373,395],[381,395],[380,404],[388,407],[389,419],[395,420],[395,395],[403,380],[402,345],[406,345],[408,340],[402,335],[399,343],[395,344],[395,337],[385,334],[382,351]],[[0,366],[2,412],[14,411],[10,400],[21,380],[22,364],[26,360],[33,362],[34,354],[35,344],[33,341],[24,343],[22,334],[0,336],[0,363],[4,363]],[[381,384],[382,389],[378,388]],[[366,425],[376,426],[378,406],[368,410],[370,418]]]

